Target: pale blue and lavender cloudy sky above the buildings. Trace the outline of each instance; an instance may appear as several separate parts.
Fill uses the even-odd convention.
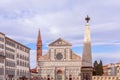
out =
[[[43,55],[59,37],[82,55],[86,15],[91,18],[93,62],[120,62],[120,0],[0,0],[0,32],[31,49],[34,68],[39,29]]]

